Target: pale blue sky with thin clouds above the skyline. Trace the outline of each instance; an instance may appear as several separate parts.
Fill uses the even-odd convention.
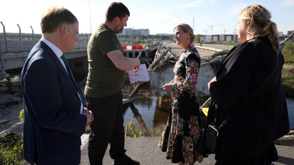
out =
[[[92,31],[102,22],[107,6],[113,1],[90,0]],[[294,30],[293,7],[294,0],[122,0],[130,10],[126,28],[149,28],[150,34],[173,33],[172,29],[180,23],[187,23],[193,28],[194,34],[233,34],[237,25],[237,15],[245,7],[252,4],[264,5],[272,13],[272,21],[277,24],[278,31],[284,34]],[[62,5],[69,9],[79,20],[80,33],[90,33],[89,0],[1,0],[0,21],[6,27],[6,32],[18,32],[17,24],[22,33],[41,33],[40,18],[42,13],[54,5]],[[0,28],[0,33],[3,29]],[[236,31],[237,32],[237,31]]]

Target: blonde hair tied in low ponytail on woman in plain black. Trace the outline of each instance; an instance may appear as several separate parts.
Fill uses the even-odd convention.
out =
[[[270,18],[272,14],[262,5],[251,5],[243,9],[238,18],[250,21],[246,32],[252,34],[253,37],[267,36],[272,44],[272,48],[276,54],[279,54],[279,38],[277,24],[272,22]],[[243,21],[244,24],[246,21]],[[252,31],[257,29],[257,31]]]

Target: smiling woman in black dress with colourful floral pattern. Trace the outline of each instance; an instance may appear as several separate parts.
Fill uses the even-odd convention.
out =
[[[192,42],[195,36],[189,25],[177,25],[174,34],[177,45],[184,50],[174,67],[175,78],[163,86],[164,91],[172,90],[171,107],[158,146],[167,152],[166,158],[172,163],[191,165],[203,160],[202,155],[193,150],[202,132],[196,91],[200,57]]]

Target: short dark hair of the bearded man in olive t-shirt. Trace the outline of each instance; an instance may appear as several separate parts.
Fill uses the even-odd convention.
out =
[[[123,19],[124,16],[130,16],[129,9],[121,2],[112,2],[105,12],[105,19],[107,21],[112,21],[115,17]]]

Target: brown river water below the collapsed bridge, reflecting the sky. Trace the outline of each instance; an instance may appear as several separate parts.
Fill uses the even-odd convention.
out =
[[[125,87],[123,90],[130,90]],[[142,119],[145,122],[146,127],[149,130],[153,129],[162,129],[164,124],[168,120],[168,113],[170,107],[170,95],[160,96],[159,90],[161,89],[152,89],[149,86],[143,86],[138,94],[134,95],[133,105],[138,110],[138,113],[142,116]],[[208,97],[199,97],[200,106],[207,100]],[[289,114],[290,128],[294,129],[294,99],[286,98]],[[136,114],[137,111],[134,111],[133,107],[126,109],[124,116],[124,123],[127,124],[130,121],[138,123],[142,127],[142,122]]]

